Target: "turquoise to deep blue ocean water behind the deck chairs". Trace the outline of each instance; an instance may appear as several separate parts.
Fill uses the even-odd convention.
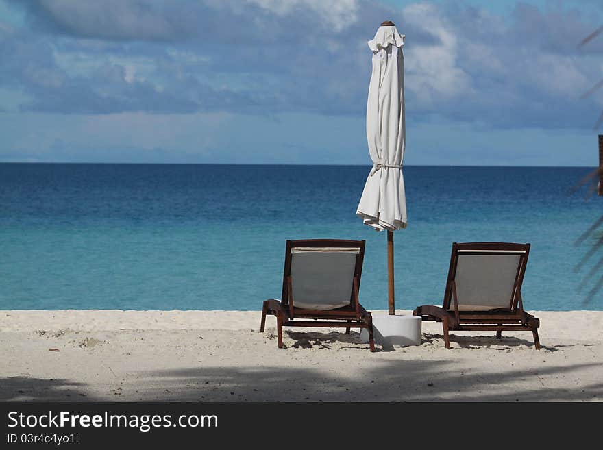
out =
[[[404,168],[397,308],[440,303],[452,242],[530,242],[527,310],[603,310],[589,168]],[[387,308],[386,234],[354,214],[368,166],[0,164],[0,309],[258,310],[285,240],[367,240],[360,301]],[[587,279],[586,282],[583,280]]]

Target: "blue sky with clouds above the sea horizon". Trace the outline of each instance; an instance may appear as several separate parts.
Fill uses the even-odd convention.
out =
[[[387,18],[406,164],[597,164],[594,0],[0,0],[0,162],[369,164]]]

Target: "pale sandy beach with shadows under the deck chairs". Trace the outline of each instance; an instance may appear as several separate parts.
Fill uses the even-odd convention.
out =
[[[603,312],[532,313],[541,351],[529,332],[447,350],[423,323],[420,346],[370,353],[328,329],[288,329],[278,349],[260,312],[1,311],[0,400],[603,400]]]

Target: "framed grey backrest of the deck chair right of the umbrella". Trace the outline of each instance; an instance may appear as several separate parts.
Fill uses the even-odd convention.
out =
[[[478,242],[453,245],[445,308],[459,311],[515,310],[529,245]]]

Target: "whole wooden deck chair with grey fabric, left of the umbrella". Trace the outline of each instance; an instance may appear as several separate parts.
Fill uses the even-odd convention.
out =
[[[264,301],[260,332],[267,314],[276,316],[279,348],[282,327],[366,328],[375,351],[371,313],[358,302],[364,256],[364,240],[287,240],[282,299]]]

